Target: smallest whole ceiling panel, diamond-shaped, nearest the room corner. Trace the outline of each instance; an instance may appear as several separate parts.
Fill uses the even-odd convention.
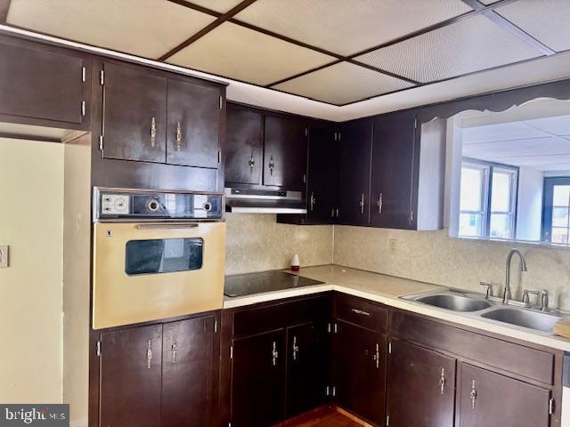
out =
[[[369,68],[340,62],[283,82],[273,88],[340,105],[411,86],[408,82]]]

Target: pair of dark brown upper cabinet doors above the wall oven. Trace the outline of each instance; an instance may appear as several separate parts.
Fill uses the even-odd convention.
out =
[[[110,61],[101,83],[102,157],[217,168],[220,86]]]

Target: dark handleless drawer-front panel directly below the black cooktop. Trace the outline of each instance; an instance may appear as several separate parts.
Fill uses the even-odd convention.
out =
[[[261,334],[285,326],[329,319],[330,295],[271,303],[233,313],[233,337]]]

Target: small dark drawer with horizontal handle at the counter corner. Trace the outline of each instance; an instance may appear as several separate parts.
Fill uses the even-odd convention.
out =
[[[335,313],[337,318],[372,331],[386,332],[387,330],[388,310],[375,302],[338,294],[335,297]]]

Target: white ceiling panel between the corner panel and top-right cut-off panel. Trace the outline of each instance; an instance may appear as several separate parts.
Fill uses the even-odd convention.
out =
[[[493,21],[476,15],[354,60],[428,83],[541,55]]]

